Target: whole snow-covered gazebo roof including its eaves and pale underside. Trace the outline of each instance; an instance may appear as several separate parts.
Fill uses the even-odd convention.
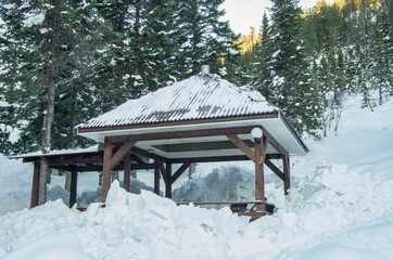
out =
[[[239,88],[213,74],[199,74],[138,100],[130,100],[106,114],[80,123],[78,134],[103,143],[105,136],[258,126],[271,133],[288,153],[295,155],[307,153],[307,147],[288,123],[280,108],[269,104],[259,92],[246,87]],[[248,132],[240,138],[252,136]],[[223,134],[189,139],[140,140],[136,146],[144,151],[154,151],[165,158],[242,154],[236,147],[227,147],[228,142],[227,136]],[[178,147],[181,145],[183,147]],[[207,145],[208,151],[202,152],[195,147],[198,145]],[[219,145],[227,148],[224,146],[219,148]],[[187,152],[186,146],[189,148]],[[268,146],[267,153],[275,152],[277,151]]]

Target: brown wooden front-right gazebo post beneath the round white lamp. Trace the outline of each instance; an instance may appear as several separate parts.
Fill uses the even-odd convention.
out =
[[[262,200],[263,204],[256,205],[256,211],[266,211],[265,207],[265,176],[264,176],[264,160],[267,147],[266,138],[262,138],[259,142],[254,140],[255,147],[255,200]]]

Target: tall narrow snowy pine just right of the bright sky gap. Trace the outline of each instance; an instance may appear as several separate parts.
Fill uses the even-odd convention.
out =
[[[300,40],[301,9],[295,0],[274,0],[270,12],[270,101],[284,110],[299,132],[314,133],[318,128],[319,98]]]

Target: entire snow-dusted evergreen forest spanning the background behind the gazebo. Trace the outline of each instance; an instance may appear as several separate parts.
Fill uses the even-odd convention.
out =
[[[303,133],[337,128],[345,99],[392,95],[393,0],[272,0],[257,44],[239,54],[224,0],[4,0],[0,152],[89,145],[75,127],[203,64],[280,106]],[[375,94],[377,91],[377,95]],[[20,135],[18,139],[14,135]]]

